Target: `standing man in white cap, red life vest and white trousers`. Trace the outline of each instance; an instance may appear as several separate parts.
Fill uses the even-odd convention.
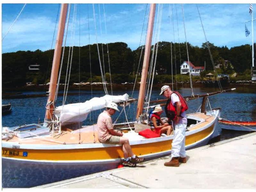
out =
[[[164,165],[179,167],[179,162],[187,162],[185,150],[187,117],[185,111],[188,109],[188,106],[180,93],[172,92],[168,85],[164,85],[161,88],[160,95],[164,95],[168,99],[165,105],[165,113],[168,119],[172,120],[174,127],[171,161],[164,163]]]

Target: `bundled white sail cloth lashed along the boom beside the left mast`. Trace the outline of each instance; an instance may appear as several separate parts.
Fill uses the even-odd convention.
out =
[[[103,97],[94,97],[84,103],[59,106],[54,110],[54,115],[59,118],[62,125],[82,122],[87,118],[90,111],[105,108],[109,102],[122,102],[128,100],[128,98],[129,95],[127,93],[118,96],[105,95]]]

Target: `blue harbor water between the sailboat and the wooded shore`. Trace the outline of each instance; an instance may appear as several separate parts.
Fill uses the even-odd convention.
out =
[[[190,88],[183,88],[178,90],[183,96],[191,95]],[[219,91],[217,88],[194,88],[194,94],[204,94],[207,92]],[[70,91],[77,92],[77,91]],[[23,94],[44,94],[45,92],[23,92]],[[123,95],[127,93],[130,97],[132,91],[113,91],[113,95]],[[138,98],[138,90],[133,93],[133,98]],[[85,102],[93,97],[104,96],[103,91],[81,91],[75,95],[67,97],[66,103]],[[153,90],[151,100],[164,99],[159,95],[159,90]],[[56,106],[62,105],[63,96],[59,96]],[[47,97],[25,98],[25,99],[3,99],[2,104],[11,103],[12,113],[2,116],[2,126],[12,127],[21,124],[43,123],[45,115],[45,105]],[[209,97],[210,105],[206,106],[208,109],[221,107],[221,117],[233,121],[256,121],[256,92],[253,89],[238,89],[233,92],[214,95]],[[188,101],[187,113],[195,112],[201,105],[202,98]],[[126,107],[128,121],[134,121],[136,116],[137,103],[132,103],[130,107]],[[122,109],[119,107],[119,109]],[[102,109],[103,110],[103,109]],[[83,125],[93,124],[97,122],[98,115],[102,110],[95,111],[88,116],[83,122]],[[113,121],[117,118],[119,113],[116,113],[112,118]],[[164,115],[164,114],[162,114]],[[119,117],[117,123],[125,121],[124,113]],[[244,134],[244,132],[223,131],[219,125],[219,132],[221,133],[221,140]]]

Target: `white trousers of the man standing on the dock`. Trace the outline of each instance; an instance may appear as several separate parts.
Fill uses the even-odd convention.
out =
[[[185,132],[187,124],[175,124],[172,140],[172,157],[186,157]]]

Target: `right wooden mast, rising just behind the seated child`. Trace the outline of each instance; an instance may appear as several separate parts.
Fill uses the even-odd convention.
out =
[[[147,81],[147,75],[148,75],[148,61],[149,61],[150,50],[151,50],[155,12],[156,12],[156,4],[151,4],[149,19],[148,19],[148,31],[147,31],[147,38],[146,38],[146,45],[145,45],[143,67],[141,72],[140,92],[139,92],[139,98],[138,98],[136,119],[138,119],[140,114],[142,113],[143,103],[145,99],[145,89],[146,89],[146,81]]]

